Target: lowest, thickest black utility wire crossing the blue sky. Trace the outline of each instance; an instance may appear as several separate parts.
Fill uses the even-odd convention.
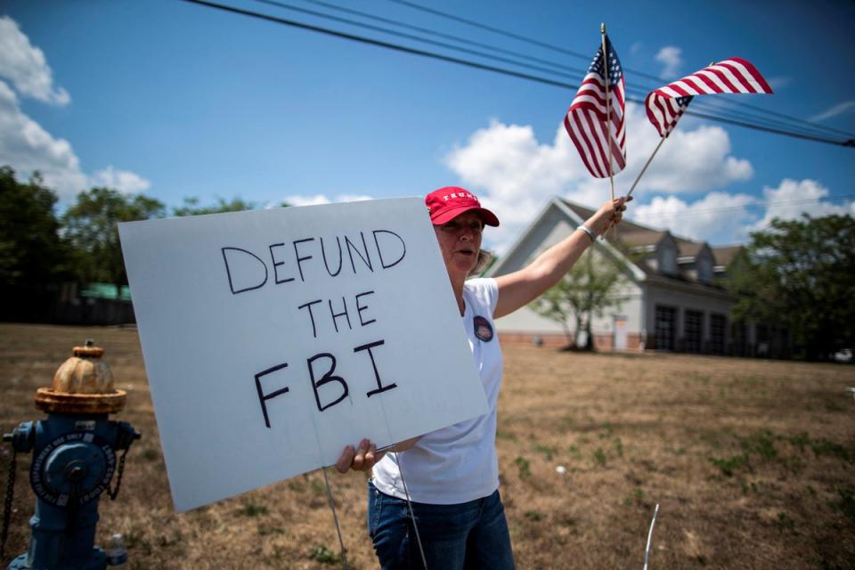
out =
[[[390,1],[396,1],[396,0],[390,0]],[[208,2],[207,0],[183,0],[183,2],[188,2],[190,4],[199,4],[202,6],[207,6],[208,8],[213,8],[216,10],[222,10],[224,12],[237,13],[237,14],[241,14],[244,16],[257,18],[260,20],[267,20],[267,21],[271,21],[271,22],[278,23],[281,25],[291,26],[294,28],[306,29],[309,31],[314,31],[317,33],[325,34],[328,36],[341,37],[344,39],[349,39],[351,41],[360,42],[363,44],[385,47],[387,49],[394,50],[397,52],[410,53],[413,55],[420,55],[422,57],[428,57],[428,58],[439,60],[439,61],[447,61],[450,63],[456,63],[458,65],[462,65],[462,66],[474,68],[474,69],[483,69],[485,71],[493,71],[494,73],[500,73],[502,75],[507,75],[509,77],[518,77],[521,79],[527,79],[529,81],[541,83],[544,85],[553,85],[553,86],[563,87],[563,88],[570,89],[570,90],[575,89],[575,85],[567,84],[563,81],[558,81],[555,79],[550,79],[548,77],[535,76],[535,75],[532,75],[529,73],[523,73],[523,72],[516,71],[513,69],[504,69],[504,68],[496,67],[493,65],[487,65],[485,63],[479,63],[476,61],[463,60],[460,58],[451,57],[451,56],[444,55],[441,53],[433,53],[433,52],[428,52],[425,50],[421,50],[421,49],[417,49],[417,48],[413,48],[413,47],[409,47],[409,46],[405,46],[405,45],[392,44],[390,42],[381,41],[379,39],[375,39],[375,38],[371,38],[371,37],[357,36],[355,34],[350,34],[350,33],[342,32],[342,31],[338,31],[338,30],[330,29],[330,28],[322,28],[320,26],[314,26],[314,25],[306,24],[304,22],[299,22],[296,20],[287,20],[284,18],[279,18],[279,17],[272,16],[272,15],[265,14],[265,13],[252,12],[249,10],[243,10],[240,8],[236,8],[236,7],[228,6],[228,5],[224,5],[224,4],[216,4],[214,2]],[[644,101],[642,99],[635,99],[635,98],[630,98],[630,97],[627,97],[626,101],[636,102],[639,104],[644,103]],[[839,141],[839,140],[834,140],[834,139],[827,138],[826,136],[821,136],[821,135],[798,133],[798,132],[794,132],[792,130],[788,131],[788,130],[785,130],[783,128],[759,126],[759,125],[747,123],[745,121],[740,121],[737,119],[722,118],[722,117],[710,115],[707,113],[699,113],[699,112],[696,112],[695,110],[686,110],[684,114],[692,115],[692,116],[699,117],[699,118],[707,118],[707,119],[710,119],[713,121],[720,121],[720,122],[728,123],[728,124],[734,125],[734,126],[744,126],[745,128],[751,128],[754,130],[765,131],[765,132],[774,133],[774,134],[783,134],[786,136],[791,136],[794,138],[800,138],[800,139],[814,141],[814,142],[825,142],[826,144],[833,144],[835,146],[855,147],[855,139],[850,139],[847,141]]]

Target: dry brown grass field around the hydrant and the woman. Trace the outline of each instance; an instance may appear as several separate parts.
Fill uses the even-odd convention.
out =
[[[36,388],[85,338],[129,392],[116,419],[142,432],[118,500],[102,496],[99,543],[123,533],[140,569],[341,566],[320,472],[175,514],[133,329],[0,325],[4,432],[41,417]],[[497,443],[517,566],[641,568],[660,503],[655,569],[855,567],[846,387],[855,366],[506,346]],[[29,460],[3,567],[27,548]],[[364,476],[330,470],[330,482],[351,566],[377,567]]]

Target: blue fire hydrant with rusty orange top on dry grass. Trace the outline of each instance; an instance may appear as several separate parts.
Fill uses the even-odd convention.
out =
[[[9,570],[103,570],[125,561],[109,560],[94,546],[101,493],[116,498],[125,455],[140,438],[126,421],[108,419],[125,407],[126,392],[113,387],[103,353],[91,340],[75,346],[53,376],[53,387],[37,389],[36,405],[47,419],[25,421],[4,434],[13,453],[33,452],[29,482],[37,497],[28,551]]]

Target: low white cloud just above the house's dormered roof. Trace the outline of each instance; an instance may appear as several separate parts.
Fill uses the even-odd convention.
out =
[[[692,240],[734,243],[748,237],[754,216],[747,208],[756,202],[747,194],[727,192],[710,192],[691,203],[676,196],[655,196],[649,204],[630,206],[627,217]]]

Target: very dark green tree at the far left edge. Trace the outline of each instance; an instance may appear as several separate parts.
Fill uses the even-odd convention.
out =
[[[0,285],[42,288],[68,271],[56,201],[39,175],[20,183],[0,167]]]

